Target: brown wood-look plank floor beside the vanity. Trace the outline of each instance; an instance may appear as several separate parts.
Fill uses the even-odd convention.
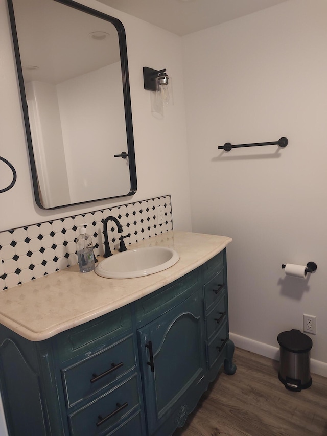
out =
[[[174,436],[327,436],[327,378],[291,392],[278,380],[277,361],[235,349],[235,375],[209,385]]]

